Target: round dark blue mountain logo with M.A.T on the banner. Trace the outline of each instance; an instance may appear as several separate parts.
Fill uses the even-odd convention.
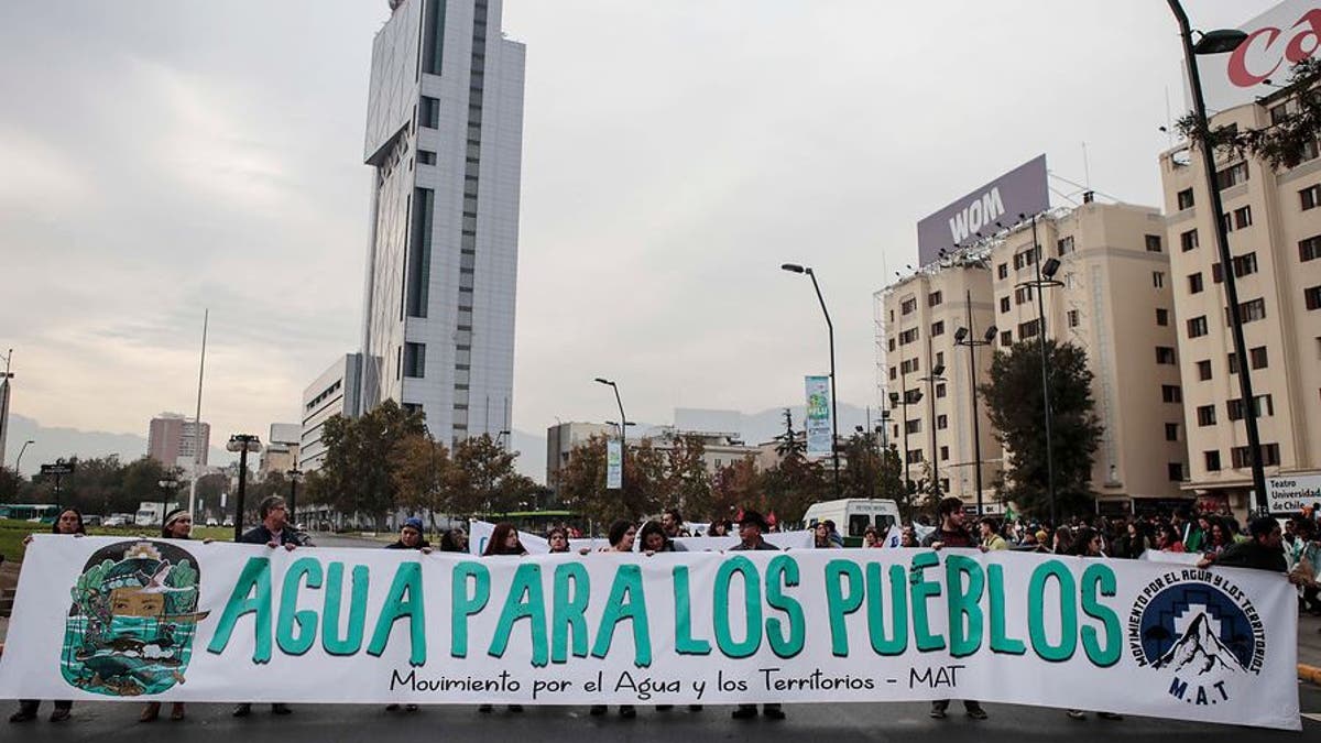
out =
[[[1266,629],[1238,586],[1186,568],[1166,572],[1137,596],[1128,645],[1139,666],[1169,674],[1176,699],[1219,705],[1262,673]]]

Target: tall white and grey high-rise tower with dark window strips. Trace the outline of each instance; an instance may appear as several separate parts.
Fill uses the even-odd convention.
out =
[[[371,53],[362,410],[421,409],[439,440],[509,430],[522,44],[501,0],[391,0]]]

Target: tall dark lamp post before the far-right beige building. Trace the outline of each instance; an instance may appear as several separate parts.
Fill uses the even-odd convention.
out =
[[[1215,250],[1221,256],[1221,274],[1225,278],[1225,300],[1229,303],[1230,334],[1234,337],[1234,354],[1238,357],[1239,397],[1243,399],[1243,427],[1247,430],[1247,448],[1252,463],[1252,492],[1254,498],[1248,498],[1248,510],[1266,510],[1266,469],[1262,465],[1262,435],[1256,426],[1256,397],[1252,394],[1251,364],[1247,357],[1247,341],[1243,337],[1243,312],[1238,301],[1238,279],[1234,275],[1234,255],[1230,253],[1230,241],[1226,234],[1226,225],[1222,214],[1225,205],[1221,202],[1221,189],[1215,184],[1215,153],[1211,143],[1205,136],[1209,134],[1210,123],[1206,116],[1206,99],[1202,95],[1202,77],[1197,70],[1197,57],[1202,54],[1225,54],[1232,52],[1247,40],[1242,30],[1225,29],[1202,34],[1202,38],[1193,44],[1193,30],[1188,22],[1188,13],[1178,0],[1168,0],[1169,9],[1178,21],[1178,34],[1184,41],[1184,62],[1188,66],[1188,82],[1193,89],[1193,115],[1197,119],[1197,128],[1202,132],[1198,136],[1198,155],[1202,159],[1202,172],[1206,176],[1206,190],[1211,194],[1211,222],[1215,223]]]

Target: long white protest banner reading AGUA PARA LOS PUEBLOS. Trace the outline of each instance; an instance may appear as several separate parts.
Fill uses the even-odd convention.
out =
[[[0,697],[972,698],[1300,730],[1296,603],[1271,572],[1008,550],[473,558],[38,535]]]

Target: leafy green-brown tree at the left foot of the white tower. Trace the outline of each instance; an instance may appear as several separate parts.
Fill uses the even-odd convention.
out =
[[[420,410],[404,410],[392,399],[359,418],[330,416],[321,430],[326,457],[318,497],[343,513],[365,513],[379,526],[399,500],[395,451],[425,428]]]

